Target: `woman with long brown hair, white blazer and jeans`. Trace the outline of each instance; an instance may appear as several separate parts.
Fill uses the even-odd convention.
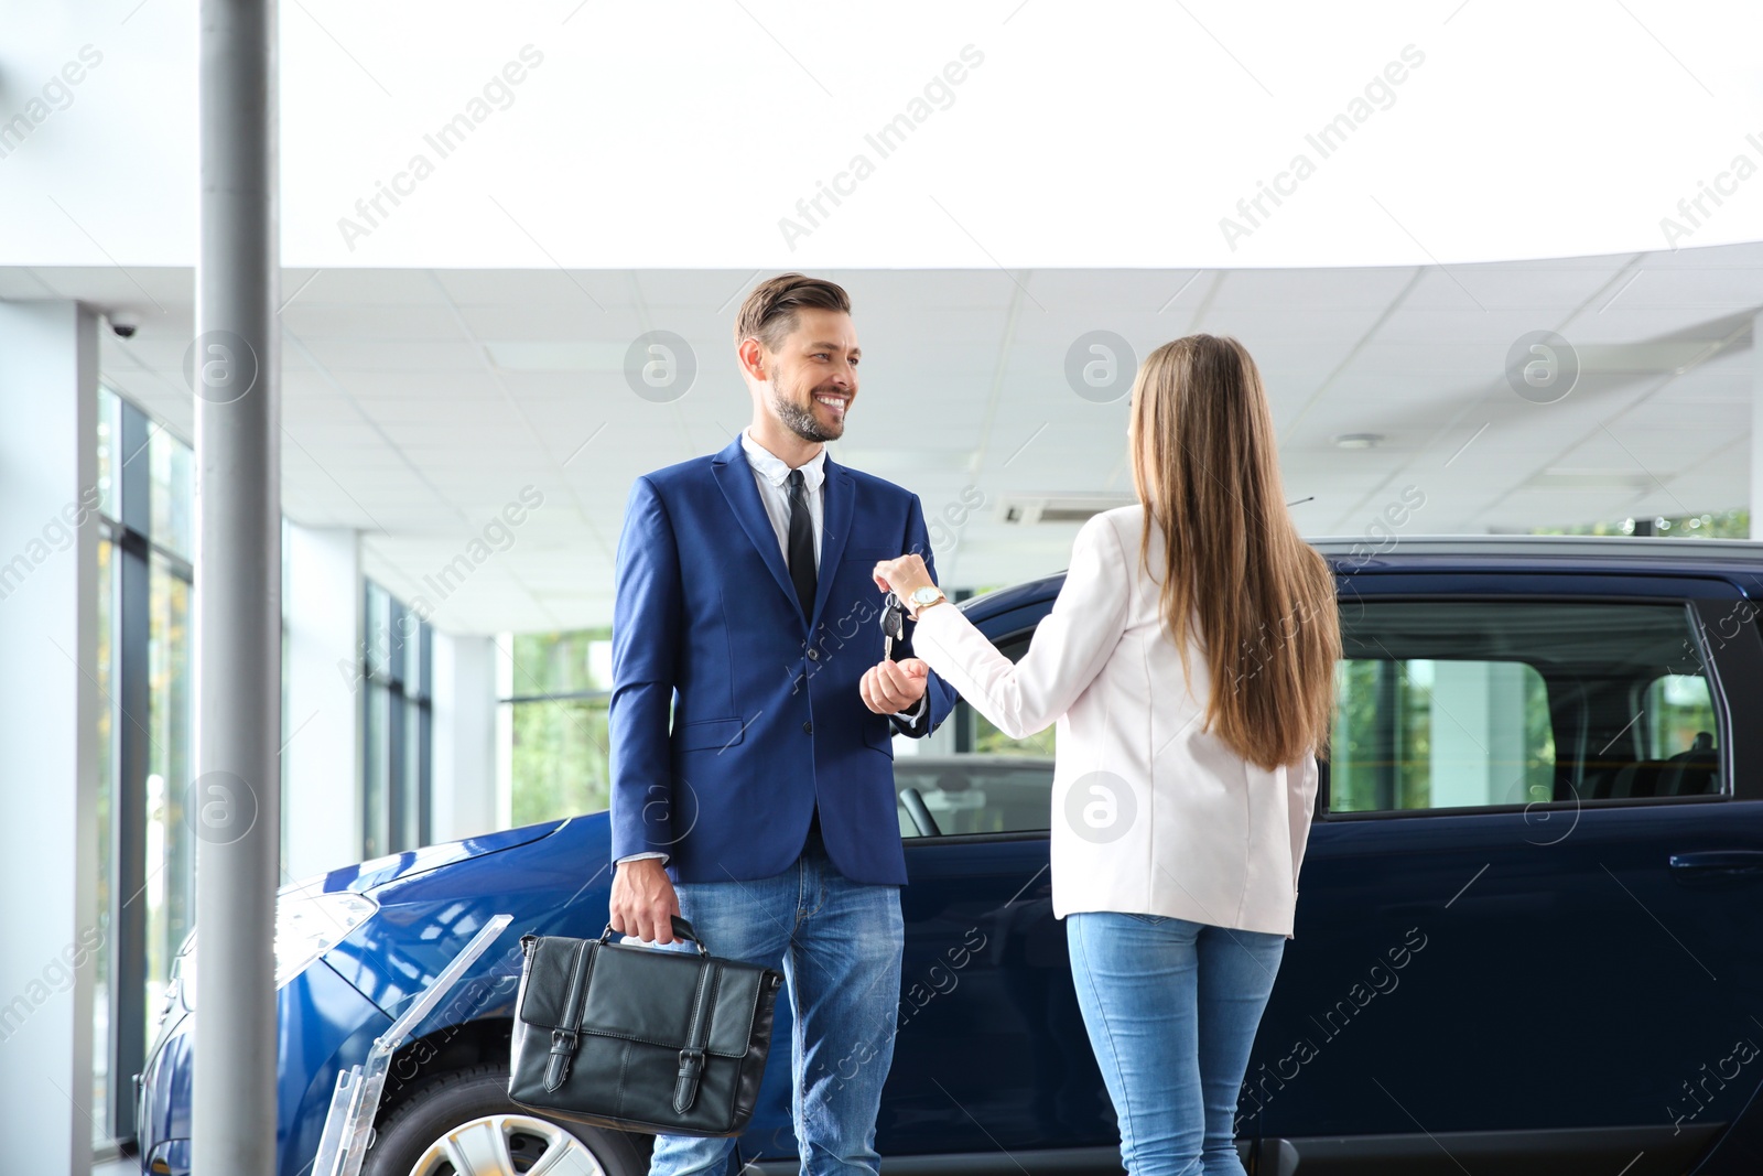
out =
[[[1292,525],[1234,339],[1153,351],[1127,430],[1139,502],[1082,525],[1012,665],[917,555],[876,566],[917,658],[1001,732],[1058,723],[1053,913],[1132,1176],[1241,1176],[1234,1116],[1292,936],[1328,753],[1335,580]],[[867,684],[866,684],[867,686]]]

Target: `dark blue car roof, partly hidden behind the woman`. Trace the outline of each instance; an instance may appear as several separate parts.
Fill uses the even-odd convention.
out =
[[[1308,540],[1336,573],[1359,569],[1560,569],[1560,571],[1670,571],[1680,575],[1759,577],[1763,541],[1677,540],[1627,534],[1396,534],[1320,536]],[[1065,573],[986,592],[984,612],[1015,608],[1056,596]]]

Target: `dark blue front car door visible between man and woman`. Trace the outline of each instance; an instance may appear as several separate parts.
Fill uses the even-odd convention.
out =
[[[975,619],[1017,659],[1049,607],[1051,592]],[[1118,1165],[1112,1109],[1077,1010],[1063,926],[1053,919],[1053,730],[1010,741],[963,702],[934,739],[896,746],[894,770],[910,883],[901,890],[906,950],[876,1148],[885,1157],[991,1158],[1008,1171],[1015,1153],[1097,1148],[1102,1167]],[[783,1005],[777,1021],[772,1056],[786,1060]],[[848,1079],[878,1063],[857,1051],[836,1070]],[[742,1164],[765,1172],[795,1171],[788,1070],[767,1068],[740,1139]]]

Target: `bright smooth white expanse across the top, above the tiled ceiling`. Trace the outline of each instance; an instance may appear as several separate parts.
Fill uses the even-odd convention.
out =
[[[0,266],[196,261],[197,9],[0,0],[0,123],[35,123],[4,160]],[[1756,0],[277,9],[294,266],[1285,268],[1763,238]],[[69,63],[83,81],[46,92]]]

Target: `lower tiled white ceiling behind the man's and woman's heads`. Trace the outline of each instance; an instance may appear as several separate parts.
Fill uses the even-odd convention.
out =
[[[423,592],[444,629],[605,624],[631,480],[719,450],[749,418],[728,335],[758,277],[291,270],[284,511],[358,529],[368,575]],[[931,517],[964,492],[986,497],[938,547],[947,584],[1065,564],[1075,525],[1012,525],[1005,502],[1130,494],[1125,398],[1095,404],[1065,379],[1067,349],[1091,330],[1141,358],[1197,330],[1241,339],[1273,398],[1287,495],[1313,495],[1294,508],[1310,536],[1363,534],[1407,487],[1425,506],[1405,525],[1430,534],[1722,510],[1749,494],[1763,243],[1449,268],[829,277],[850,289],[864,347],[837,460],[910,487]],[[132,340],[104,331],[104,377],[185,439],[192,294],[189,270],[0,268],[0,298],[138,314]],[[696,353],[696,384],[670,404],[622,374],[649,330]],[[1534,330],[1583,363],[1555,404],[1504,377],[1507,349]],[[1359,432],[1384,441],[1333,441]],[[444,601],[425,591],[527,485],[545,504],[513,545]]]

